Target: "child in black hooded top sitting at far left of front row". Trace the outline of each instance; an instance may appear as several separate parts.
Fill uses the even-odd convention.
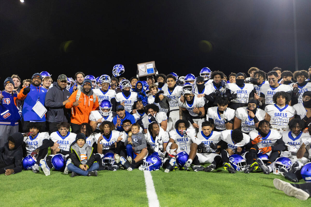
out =
[[[21,172],[21,160],[23,158],[21,145],[23,139],[22,133],[13,133],[9,136],[9,141],[3,147],[0,147],[0,174],[11,175],[12,173]]]

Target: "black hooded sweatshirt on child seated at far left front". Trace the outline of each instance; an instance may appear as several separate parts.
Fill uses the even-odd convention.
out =
[[[5,163],[7,166],[14,164],[14,173],[21,172],[22,169],[22,159],[23,159],[23,150],[22,143],[24,137],[22,133],[16,132],[11,136],[14,139],[15,147],[10,150],[9,142],[5,144],[5,146],[0,148],[0,162]]]

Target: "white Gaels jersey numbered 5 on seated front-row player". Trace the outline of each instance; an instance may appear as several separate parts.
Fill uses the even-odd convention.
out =
[[[193,128],[188,128],[187,132],[192,134],[193,137],[196,136],[196,131]],[[187,153],[190,152],[190,145],[195,142],[195,140],[192,140],[189,135],[180,134],[178,129],[171,130],[169,132],[169,137],[174,139],[174,142],[178,145],[177,151],[184,150]]]

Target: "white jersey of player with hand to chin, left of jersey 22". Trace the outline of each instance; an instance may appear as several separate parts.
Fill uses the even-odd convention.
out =
[[[259,121],[265,119],[266,112],[262,109],[257,108],[255,116]],[[254,119],[248,116],[247,106],[237,108],[235,116],[241,120],[241,131],[248,133],[255,129]]]

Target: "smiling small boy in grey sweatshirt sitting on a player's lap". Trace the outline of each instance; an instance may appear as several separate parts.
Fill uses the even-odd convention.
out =
[[[132,138],[127,136],[124,142],[124,145],[126,146],[126,153],[128,155],[128,162],[131,164],[131,167],[128,168],[129,171],[142,164],[140,161],[142,161],[148,154],[145,135],[139,132],[139,128],[139,124],[132,124]],[[128,144],[128,142],[132,142],[132,144]]]

